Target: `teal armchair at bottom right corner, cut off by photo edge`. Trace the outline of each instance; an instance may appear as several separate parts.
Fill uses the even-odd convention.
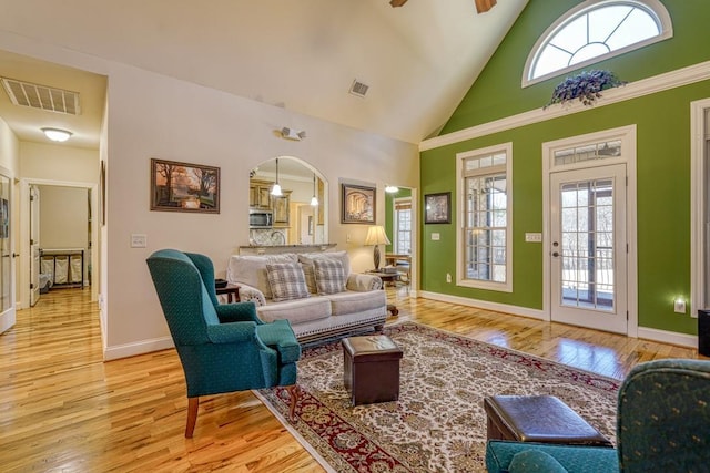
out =
[[[489,441],[489,472],[701,472],[710,470],[710,361],[635,367],[619,389],[617,448]]]

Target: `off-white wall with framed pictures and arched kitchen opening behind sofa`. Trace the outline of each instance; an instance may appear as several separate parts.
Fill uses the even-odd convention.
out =
[[[124,64],[77,53],[47,41],[0,31],[0,48],[108,75],[104,123],[108,224],[102,237],[102,319],[105,357],[118,358],[171,345],[145,258],[173,247],[203,253],[224,276],[229,256],[248,244],[248,171],[276,156],[296,156],[327,179],[329,240],[351,251],[353,268],[369,267],[366,225],[342,225],[338,179],[377,186],[377,220],[384,224],[384,184],[418,185],[418,148],[410,143],[296,115]],[[284,124],[308,137],[275,136]],[[221,213],[150,210],[151,157],[219,166]],[[145,234],[146,248],[131,248]],[[353,243],[346,244],[351,234]],[[105,256],[104,256],[105,251]],[[105,273],[104,273],[105,271]],[[105,275],[105,278],[103,276]]]

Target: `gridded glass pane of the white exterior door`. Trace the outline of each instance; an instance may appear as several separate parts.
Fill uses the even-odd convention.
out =
[[[562,306],[613,310],[613,181],[567,183],[561,203]]]

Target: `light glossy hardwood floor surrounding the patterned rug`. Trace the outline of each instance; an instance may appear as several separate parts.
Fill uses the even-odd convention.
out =
[[[202,399],[194,439],[174,350],[102,361],[99,310],[88,289],[44,295],[0,336],[3,472],[322,472],[251,392]],[[697,350],[541,322],[388,289],[413,320],[623,378],[658,358]],[[702,357],[700,357],[702,358]]]

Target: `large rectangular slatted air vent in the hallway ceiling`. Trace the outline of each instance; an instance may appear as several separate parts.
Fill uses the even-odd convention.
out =
[[[79,92],[54,89],[47,85],[32,84],[2,78],[2,85],[16,105],[30,106],[48,112],[79,115]]]

